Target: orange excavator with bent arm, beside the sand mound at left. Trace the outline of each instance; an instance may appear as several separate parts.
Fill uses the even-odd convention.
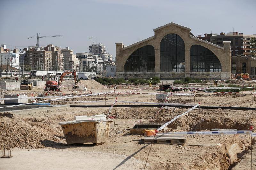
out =
[[[77,85],[78,82],[76,80],[76,70],[74,69],[73,71],[65,71],[61,74],[60,79],[58,81],[58,78],[56,75],[48,75],[48,80],[46,81],[45,87],[44,87],[44,91],[60,91],[60,85],[62,83],[62,80],[64,78],[65,75],[67,74],[73,74],[74,76],[74,81],[75,81],[75,85],[72,87],[73,89],[77,89],[79,88],[79,86]],[[58,82],[57,82],[58,81]]]

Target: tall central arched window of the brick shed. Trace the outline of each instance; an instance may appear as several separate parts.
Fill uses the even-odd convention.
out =
[[[185,44],[177,34],[165,35],[160,43],[160,71],[185,71]]]

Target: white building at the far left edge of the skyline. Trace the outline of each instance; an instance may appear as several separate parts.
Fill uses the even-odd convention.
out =
[[[9,53],[0,53],[0,62],[2,60],[2,65],[10,65],[19,69],[19,54],[13,53],[10,51]]]

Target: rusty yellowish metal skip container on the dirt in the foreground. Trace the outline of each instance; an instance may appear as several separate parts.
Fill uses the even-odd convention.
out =
[[[76,118],[75,118],[76,119]],[[113,120],[74,120],[60,122],[67,144],[104,144]]]

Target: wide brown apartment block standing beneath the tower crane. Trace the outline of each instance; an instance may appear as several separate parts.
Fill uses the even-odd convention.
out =
[[[52,51],[48,50],[30,50],[26,51],[24,65],[29,70],[52,70]]]

